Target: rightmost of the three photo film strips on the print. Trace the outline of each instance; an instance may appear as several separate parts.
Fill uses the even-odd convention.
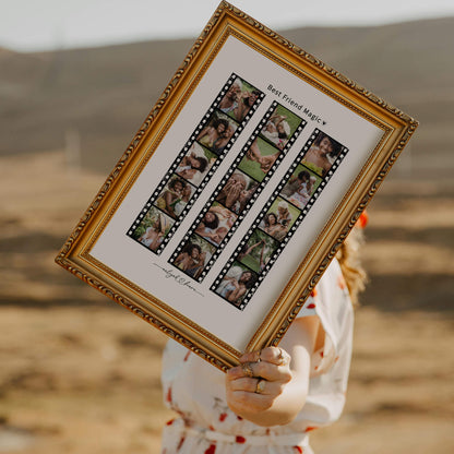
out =
[[[211,290],[243,310],[348,153],[315,129]]]

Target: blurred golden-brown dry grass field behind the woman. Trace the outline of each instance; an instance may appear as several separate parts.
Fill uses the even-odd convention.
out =
[[[0,453],[158,453],[166,337],[53,263],[105,176],[0,158]],[[454,452],[454,190],[372,202],[347,406],[318,454]]]

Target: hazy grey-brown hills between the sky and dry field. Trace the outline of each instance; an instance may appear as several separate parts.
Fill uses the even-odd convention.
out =
[[[454,17],[282,32],[421,122],[413,176],[454,169]],[[16,53],[0,49],[0,154],[57,150],[69,130],[84,164],[108,171],[193,39]],[[409,157],[406,157],[409,159]],[[407,166],[408,167],[408,166]]]

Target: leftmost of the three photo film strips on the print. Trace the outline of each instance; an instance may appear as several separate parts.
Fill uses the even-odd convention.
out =
[[[127,235],[160,254],[213,177],[264,93],[232,73]]]

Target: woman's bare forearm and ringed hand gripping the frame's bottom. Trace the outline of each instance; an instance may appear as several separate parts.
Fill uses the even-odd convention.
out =
[[[264,348],[259,362],[259,353],[244,354],[240,358],[241,365],[226,374],[230,409],[259,426],[292,421],[306,404],[310,358],[319,327],[316,315],[298,319],[283,338],[282,347]],[[249,367],[244,366],[248,363]],[[249,377],[251,371],[253,377]],[[258,393],[258,384],[262,381],[263,391]]]

